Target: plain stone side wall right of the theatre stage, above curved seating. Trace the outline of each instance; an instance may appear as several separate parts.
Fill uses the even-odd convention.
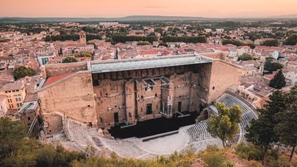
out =
[[[223,60],[212,62],[208,103],[221,96],[228,87],[239,85],[242,69]]]

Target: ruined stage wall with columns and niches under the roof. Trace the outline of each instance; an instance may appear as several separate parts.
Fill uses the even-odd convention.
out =
[[[109,129],[162,114],[170,118],[176,111],[199,111],[199,104],[204,105],[208,98],[211,66],[208,63],[93,74],[98,126]]]

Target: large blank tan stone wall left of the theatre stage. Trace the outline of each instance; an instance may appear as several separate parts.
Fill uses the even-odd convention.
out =
[[[38,91],[43,113],[62,113],[83,123],[97,125],[91,73],[80,71]],[[50,120],[46,120],[49,122]]]

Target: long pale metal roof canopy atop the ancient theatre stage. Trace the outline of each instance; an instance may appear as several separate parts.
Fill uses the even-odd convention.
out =
[[[162,58],[122,60],[91,64],[91,73],[98,74],[114,71],[128,71],[134,69],[151,69],[159,67],[173,67],[179,65],[195,65],[211,63],[211,58],[199,55],[164,56]]]

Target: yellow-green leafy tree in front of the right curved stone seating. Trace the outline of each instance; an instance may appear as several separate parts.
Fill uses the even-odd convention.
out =
[[[232,140],[239,133],[242,110],[236,104],[228,108],[221,102],[217,102],[216,107],[219,114],[210,116],[207,129],[212,136],[219,137],[225,147],[227,140]]]

